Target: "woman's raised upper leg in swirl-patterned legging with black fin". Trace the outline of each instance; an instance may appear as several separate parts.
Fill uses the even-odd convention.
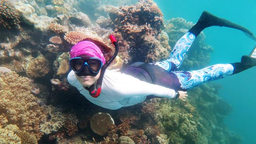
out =
[[[253,36],[253,33],[244,28],[243,26],[239,26],[237,24],[234,24],[233,22],[216,17],[214,15],[211,15],[207,11],[204,11],[200,16],[198,22],[185,35],[183,35],[178,40],[178,42],[176,42],[169,58],[165,61],[160,61],[152,64],[158,65],[169,72],[177,70],[180,67],[185,55],[187,54],[195,38],[202,30],[210,26],[225,26],[229,28],[235,28]]]

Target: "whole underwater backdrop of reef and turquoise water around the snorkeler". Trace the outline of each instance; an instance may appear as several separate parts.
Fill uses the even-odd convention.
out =
[[[114,52],[109,69],[169,57],[206,10],[256,33],[256,2],[246,0],[1,0],[0,144],[256,143],[256,67],[188,91],[186,102],[154,98],[108,110],[67,82],[70,47],[96,39]],[[239,30],[198,35],[180,70],[239,62],[256,42]],[[114,123],[113,123],[114,122]]]

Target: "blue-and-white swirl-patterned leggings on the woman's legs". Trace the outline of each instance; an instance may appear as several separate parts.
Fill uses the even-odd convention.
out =
[[[187,54],[187,51],[189,50],[195,38],[196,37],[193,33],[187,32],[183,37],[178,40],[178,42],[176,42],[173,51],[171,52],[171,55],[167,60],[157,63],[149,63],[151,65],[158,65],[161,68],[169,71],[169,75],[171,77],[178,77],[178,81],[176,83],[180,84],[179,87],[182,90],[190,89],[199,85],[202,82],[213,81],[224,78],[226,76],[230,76],[234,72],[234,67],[231,64],[217,64],[202,68],[200,70],[176,71],[180,67],[185,55]],[[166,77],[167,76],[165,75],[165,79],[169,79]],[[176,79],[172,80],[175,81]],[[156,82],[156,84],[165,85],[164,83],[158,82]]]

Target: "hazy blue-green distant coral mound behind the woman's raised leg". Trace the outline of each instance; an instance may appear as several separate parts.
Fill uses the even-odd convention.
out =
[[[170,46],[174,46],[176,41],[193,25],[192,22],[187,22],[184,18],[172,18],[171,20],[165,21],[164,31],[169,36]],[[205,35],[201,32],[193,42],[179,70],[192,70],[192,68],[195,70],[208,65],[210,62],[210,53],[213,52],[213,48],[205,44],[204,39]]]

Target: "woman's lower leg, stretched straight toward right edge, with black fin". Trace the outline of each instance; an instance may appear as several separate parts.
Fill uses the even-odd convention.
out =
[[[225,78],[226,76],[237,74],[253,66],[256,66],[256,46],[250,55],[243,55],[239,63],[217,64],[201,70],[177,71],[172,73],[177,76],[180,88],[187,90],[203,82]]]

